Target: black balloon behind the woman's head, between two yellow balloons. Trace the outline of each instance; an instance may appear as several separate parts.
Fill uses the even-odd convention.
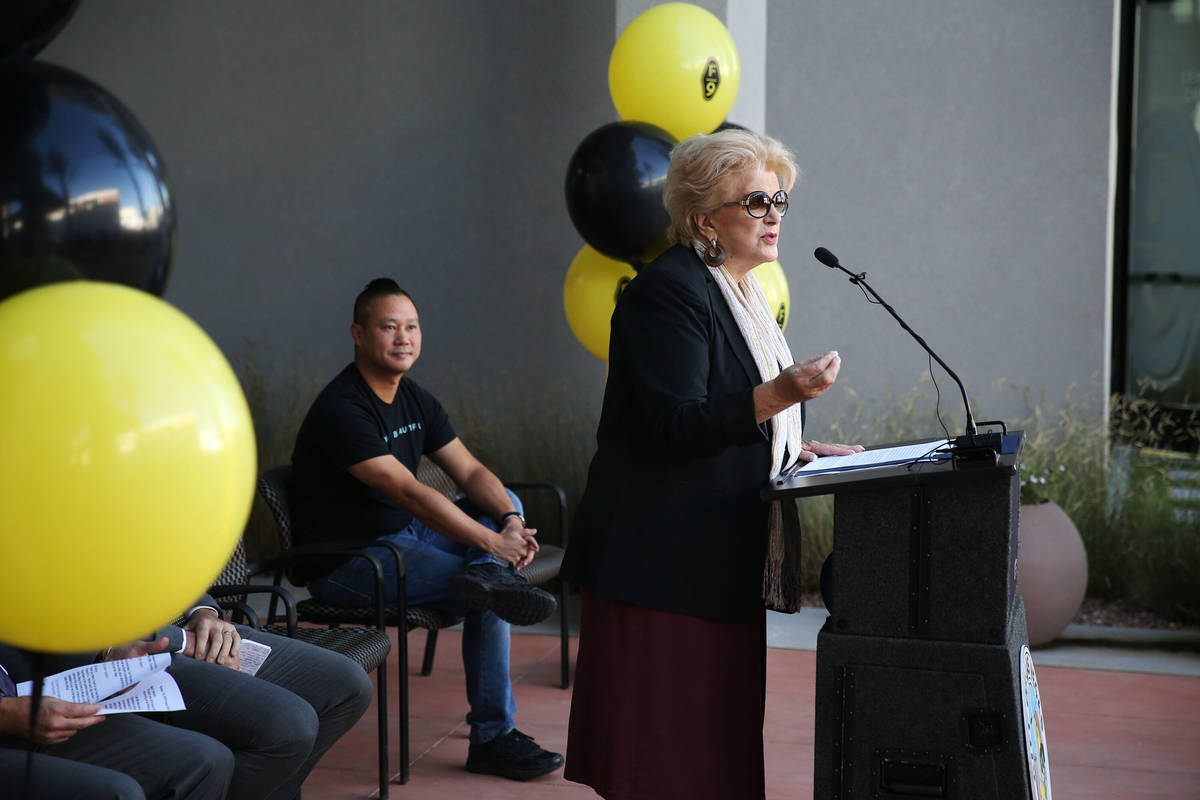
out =
[[[649,122],[610,122],[575,149],[566,169],[566,210],[592,247],[635,267],[667,248],[662,205],[676,139]]]

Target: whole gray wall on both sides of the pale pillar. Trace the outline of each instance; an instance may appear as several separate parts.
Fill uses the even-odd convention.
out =
[[[180,215],[167,299],[232,359],[252,345],[280,385],[328,377],[353,295],[392,275],[422,313],[418,379],[515,437],[599,409],[604,365],[562,311],[583,243],[563,180],[616,119],[630,7],[92,0],[42,58],[158,144]],[[781,248],[797,356],[839,349],[859,397],[925,365],[812,261],[824,245],[956,366],[980,417],[1015,408],[995,378],[1055,398],[1102,369],[1111,25],[1096,0],[767,4],[767,132],[806,173]]]

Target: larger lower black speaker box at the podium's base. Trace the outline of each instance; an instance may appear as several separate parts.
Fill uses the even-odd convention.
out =
[[[814,796],[1031,798],[1021,709],[1025,607],[1003,644],[864,637],[817,640]]]

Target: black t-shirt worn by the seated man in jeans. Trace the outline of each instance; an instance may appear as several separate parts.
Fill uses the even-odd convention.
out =
[[[424,453],[455,438],[442,404],[412,378],[391,403],[367,386],[353,363],[322,390],[292,451],[292,513],[299,545],[330,539],[374,539],[402,530],[413,515],[347,471],[391,455],[416,471]],[[334,563],[326,565],[331,570]]]

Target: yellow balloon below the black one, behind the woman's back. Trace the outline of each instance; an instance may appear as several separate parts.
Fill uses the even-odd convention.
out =
[[[608,323],[617,307],[617,296],[637,275],[634,267],[602,255],[590,245],[571,259],[563,283],[563,309],[566,324],[588,353],[608,360]]]

